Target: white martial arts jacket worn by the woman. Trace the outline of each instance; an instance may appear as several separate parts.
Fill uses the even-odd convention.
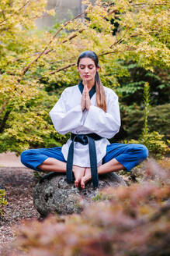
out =
[[[113,90],[104,87],[106,92],[107,112],[96,106],[96,93],[91,98],[92,105],[89,110],[82,112],[82,93],[78,85],[66,88],[61,94],[61,98],[50,111],[50,118],[58,133],[68,132],[75,134],[97,133],[103,137],[95,140],[95,148],[98,165],[102,164],[102,158],[106,155],[106,146],[109,140],[120,130],[120,108],[118,97]],[[68,149],[71,139],[63,145],[61,151],[65,160],[68,158]],[[83,145],[75,142],[73,165],[90,167],[88,144]]]

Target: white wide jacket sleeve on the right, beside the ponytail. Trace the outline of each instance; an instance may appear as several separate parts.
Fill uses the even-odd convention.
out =
[[[117,95],[111,91],[107,98],[107,112],[102,108],[91,105],[85,123],[92,133],[97,133],[101,137],[111,138],[120,130],[120,108]]]

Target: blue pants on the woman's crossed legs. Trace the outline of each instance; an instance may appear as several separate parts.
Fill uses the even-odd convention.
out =
[[[147,148],[142,144],[109,144],[106,148],[106,155],[102,158],[102,164],[116,158],[128,172],[139,165],[148,156]],[[66,162],[61,152],[61,147],[39,148],[23,151],[21,162],[30,169],[40,171],[37,166],[41,165],[47,158],[55,158],[61,162]]]

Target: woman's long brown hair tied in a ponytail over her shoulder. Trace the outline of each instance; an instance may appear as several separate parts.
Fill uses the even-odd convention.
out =
[[[95,52],[85,51],[82,52],[78,57],[77,66],[83,58],[90,58],[95,62],[95,66],[99,67],[99,59]],[[95,73],[95,91],[96,91],[96,103],[99,108],[102,108],[105,112],[107,111],[106,94],[102,82],[99,77],[98,71]]]

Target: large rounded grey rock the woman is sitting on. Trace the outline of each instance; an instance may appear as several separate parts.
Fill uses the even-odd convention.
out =
[[[85,189],[75,187],[74,183],[67,183],[64,174],[50,172],[33,189],[33,204],[40,215],[46,216],[50,212],[57,214],[71,214],[82,211],[80,201],[92,201],[99,191],[106,187],[126,186],[123,179],[116,173],[99,176],[99,187],[93,189],[92,182],[85,185]]]

